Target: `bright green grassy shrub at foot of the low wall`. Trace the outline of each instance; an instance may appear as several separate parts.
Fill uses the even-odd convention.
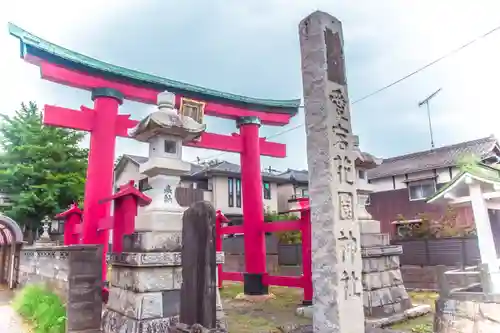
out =
[[[35,333],[64,333],[66,308],[61,299],[40,285],[29,285],[14,298],[13,307],[34,326]]]

